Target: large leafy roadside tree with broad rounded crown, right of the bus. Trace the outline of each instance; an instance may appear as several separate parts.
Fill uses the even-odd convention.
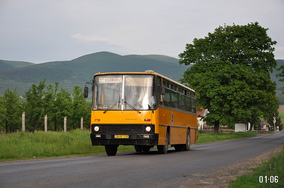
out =
[[[245,26],[219,26],[205,38],[195,38],[179,54],[180,64],[191,65],[182,83],[196,90],[199,107],[207,108],[205,121],[219,125],[252,124],[278,107],[276,84],[269,72],[276,67],[268,29],[257,22]],[[251,126],[252,127],[252,126]]]

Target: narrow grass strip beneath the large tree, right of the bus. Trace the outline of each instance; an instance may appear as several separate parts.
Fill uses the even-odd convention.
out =
[[[207,142],[216,142],[222,140],[231,140],[231,139],[238,139],[238,138],[248,138],[253,137],[257,133],[252,132],[223,132],[219,134],[213,133],[198,133],[197,144],[207,143]]]

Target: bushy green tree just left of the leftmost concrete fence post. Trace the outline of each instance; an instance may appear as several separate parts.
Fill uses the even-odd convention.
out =
[[[5,122],[5,132],[15,132],[16,129],[20,128],[22,113],[22,100],[17,94],[17,88],[13,92],[9,88],[6,89],[2,100],[4,113],[1,119]]]

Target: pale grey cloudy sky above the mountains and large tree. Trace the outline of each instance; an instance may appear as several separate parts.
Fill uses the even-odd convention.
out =
[[[43,63],[109,51],[178,58],[218,26],[259,22],[284,59],[284,1],[0,0],[0,59]]]

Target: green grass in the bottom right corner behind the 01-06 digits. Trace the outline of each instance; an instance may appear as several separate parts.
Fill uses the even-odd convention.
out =
[[[263,177],[263,182],[260,183],[260,176]],[[267,176],[267,183],[265,183]],[[270,176],[278,176],[277,183],[270,183]],[[230,185],[234,188],[255,188],[255,187],[284,187],[284,147],[283,150],[277,154],[272,154],[271,158],[262,162],[259,167],[253,168],[253,173],[239,176]]]

